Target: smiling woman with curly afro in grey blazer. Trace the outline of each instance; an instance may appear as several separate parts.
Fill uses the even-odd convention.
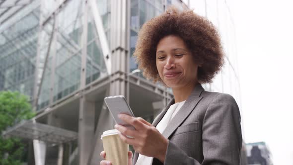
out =
[[[232,96],[201,86],[211,83],[223,65],[220,37],[212,23],[171,6],[144,24],[134,56],[144,76],[171,87],[174,98],[152,124],[119,116],[136,128],[115,125],[120,138],[136,151],[133,165],[239,165],[238,106]]]

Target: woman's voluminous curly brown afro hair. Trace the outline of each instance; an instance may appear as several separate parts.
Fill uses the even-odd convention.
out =
[[[197,73],[199,83],[212,83],[224,63],[218,31],[205,17],[187,8],[180,11],[173,5],[147,21],[139,32],[134,56],[144,77],[162,82],[155,54],[159,40],[167,35],[181,37],[196,62],[201,64]]]

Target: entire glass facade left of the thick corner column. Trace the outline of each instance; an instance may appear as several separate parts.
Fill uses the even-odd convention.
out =
[[[110,42],[110,0],[96,0],[96,4]],[[101,73],[105,75],[90,10],[90,7],[83,10],[81,0],[70,0],[62,5],[61,1],[33,0],[13,10],[16,14],[3,22],[0,29],[0,90],[18,90],[33,100],[34,91],[38,91],[34,87],[37,80],[38,110],[78,90],[81,54],[85,49],[84,12],[88,14],[86,84],[99,79]]]

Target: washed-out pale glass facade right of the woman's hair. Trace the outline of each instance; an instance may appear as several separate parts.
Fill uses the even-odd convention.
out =
[[[233,14],[226,0],[193,0],[190,7],[194,12],[206,16],[220,32],[225,65],[213,83],[204,84],[206,90],[231,94],[241,107],[236,37]]]

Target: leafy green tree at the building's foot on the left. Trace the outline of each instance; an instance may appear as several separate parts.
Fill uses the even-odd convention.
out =
[[[0,91],[0,133],[21,120],[34,116],[26,95],[17,91]],[[0,137],[0,165],[20,165],[26,144],[19,138]]]

